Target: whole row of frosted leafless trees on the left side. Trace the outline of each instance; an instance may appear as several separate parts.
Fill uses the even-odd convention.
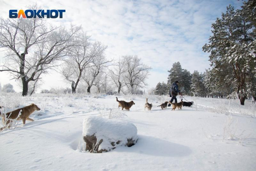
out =
[[[39,9],[31,5],[30,9]],[[22,95],[31,95],[42,77],[50,70],[58,71],[70,82],[72,93],[78,85],[92,86],[98,92],[108,90],[139,92],[147,83],[151,67],[136,55],[109,60],[107,45],[92,41],[81,26],[53,26],[43,18],[0,18],[0,48],[6,56],[0,72],[9,72],[18,80]]]

